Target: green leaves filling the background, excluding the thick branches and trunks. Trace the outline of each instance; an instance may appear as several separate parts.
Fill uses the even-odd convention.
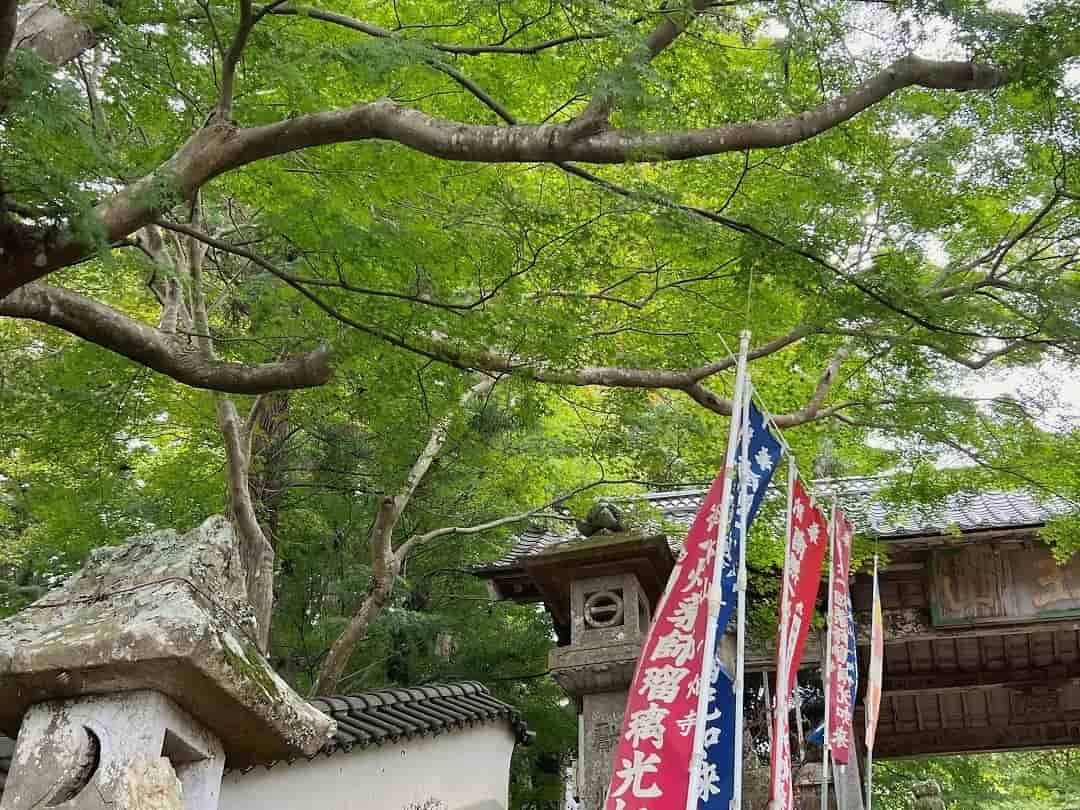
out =
[[[389,37],[305,12],[260,19],[238,73],[239,126],[379,98],[501,125],[455,72],[523,122],[566,122],[599,98],[612,125],[647,131],[796,113],[908,50],[940,44],[1023,80],[993,94],[910,87],[784,150],[594,170],[625,193],[555,165],[456,163],[376,139],[256,161],[210,181],[205,228],[305,280],[319,299],[211,251],[204,286],[221,359],[259,362],[319,345],[334,357],[327,386],[289,395],[283,437],[253,470],[267,482],[260,508],[278,557],[275,666],[310,687],[369,585],[366,537],[380,498],[399,491],[433,424],[471,383],[467,369],[431,356],[435,336],[460,351],[457,366],[489,351],[515,373],[451,419],[396,542],[537,508],[600,477],[643,483],[583,491],[566,504],[572,513],[599,497],[712,480],[727,420],[684,393],[541,386],[530,375],[696,368],[728,357],[743,328],[755,345],[808,328],[753,363],[775,414],[806,407],[828,359],[851,352],[824,402],[836,418],[786,433],[808,476],[815,464],[829,475],[899,470],[888,492],[897,509],[957,488],[1024,486],[1080,500],[1080,431],[1053,418],[1063,404],[1055,383],[1039,384],[1075,376],[1080,347],[1071,197],[1080,132],[1075,60],[1063,59],[1080,25],[1075,3],[1031,3],[1023,15],[991,5],[720,3],[652,60],[643,42],[660,15],[645,0],[334,3]],[[151,289],[189,280],[131,245],[109,249],[89,212],[211,119],[237,18],[226,3],[197,6],[95,6],[105,15],[96,57],[54,71],[21,52],[3,80],[4,194],[100,254],[48,281],[149,324],[161,313]],[[935,42],[932,30],[950,41]],[[453,53],[581,32],[596,36],[529,55]],[[158,173],[135,202],[186,219],[187,206],[173,205],[174,177]],[[1002,283],[980,287],[991,270]],[[177,336],[185,350],[191,332]],[[1012,343],[995,367],[1024,383],[1008,399],[980,395],[964,364]],[[730,369],[703,380],[721,397],[732,382]],[[224,496],[210,394],[57,330],[0,320],[0,613],[93,548],[150,527],[187,528],[220,511]],[[774,510],[748,550],[761,634],[775,621]],[[342,689],[489,684],[540,732],[537,747],[518,753],[515,806],[552,808],[575,734],[572,711],[544,675],[552,630],[538,609],[491,604],[465,573],[501,555],[516,528],[444,538],[413,555]],[[1080,548],[1078,528],[1063,519],[1048,529],[1061,556]],[[861,539],[855,566],[875,551]],[[906,777],[896,773],[899,791]],[[974,771],[957,773],[949,785],[983,785]],[[990,777],[986,801],[1004,789]]]

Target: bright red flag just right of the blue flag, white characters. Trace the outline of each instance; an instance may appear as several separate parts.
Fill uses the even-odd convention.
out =
[[[788,713],[792,690],[798,679],[799,663],[818,599],[822,562],[828,528],[825,515],[789,468],[787,549],[780,593],[780,629],[777,634],[777,708],[770,762],[770,798],[775,810],[794,807],[792,789],[791,735]]]

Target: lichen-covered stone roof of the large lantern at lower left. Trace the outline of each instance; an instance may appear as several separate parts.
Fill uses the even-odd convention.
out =
[[[262,657],[245,593],[224,517],[98,550],[0,623],[0,732],[43,701],[150,690],[216,734],[230,766],[314,754],[334,723]]]

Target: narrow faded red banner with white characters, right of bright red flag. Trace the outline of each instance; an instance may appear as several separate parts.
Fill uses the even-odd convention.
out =
[[[833,761],[851,760],[851,676],[848,673],[848,635],[851,603],[848,571],[851,569],[851,537],[854,529],[839,509],[833,510],[831,613],[828,617],[828,747]]]

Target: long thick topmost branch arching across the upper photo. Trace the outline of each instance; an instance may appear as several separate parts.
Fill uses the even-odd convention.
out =
[[[192,135],[153,173],[95,210],[105,238],[114,242],[152,221],[177,200],[226,172],[278,154],[329,144],[391,140],[459,161],[623,163],[698,158],[745,149],[770,149],[811,138],[853,118],[903,87],[989,90],[1008,81],[993,67],[907,56],[850,93],[798,116],[771,121],[642,133],[605,130],[582,134],[575,123],[497,126],[433,118],[380,99],[299,116],[265,126],[237,129],[218,120]],[[162,188],[170,193],[163,194]],[[81,260],[91,245],[71,234],[9,234],[0,261],[0,296],[53,270]]]

